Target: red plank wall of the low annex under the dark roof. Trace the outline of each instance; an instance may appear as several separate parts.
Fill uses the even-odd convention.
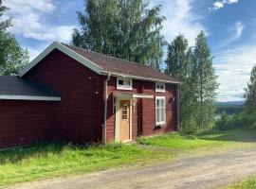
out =
[[[0,147],[25,146],[51,139],[58,102],[0,100]]]

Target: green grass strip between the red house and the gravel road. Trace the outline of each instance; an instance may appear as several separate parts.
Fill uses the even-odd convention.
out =
[[[137,143],[177,149],[161,151],[136,145],[71,146],[45,143],[0,152],[0,186],[28,180],[86,173],[111,167],[145,163],[161,163],[180,158],[183,154],[214,153],[213,148],[251,146],[255,130],[232,130],[184,136],[177,133],[154,138],[139,138]],[[192,150],[196,149],[196,153]]]

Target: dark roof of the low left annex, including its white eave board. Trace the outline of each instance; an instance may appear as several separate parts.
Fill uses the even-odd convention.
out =
[[[0,76],[0,99],[61,100],[60,94],[36,81]]]

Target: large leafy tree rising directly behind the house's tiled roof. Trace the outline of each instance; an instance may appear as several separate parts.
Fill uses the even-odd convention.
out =
[[[159,13],[160,6],[149,9],[145,0],[85,0],[72,43],[160,69],[165,41]]]

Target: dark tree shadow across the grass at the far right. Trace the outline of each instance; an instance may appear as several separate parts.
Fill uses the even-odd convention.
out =
[[[235,129],[212,135],[201,135],[198,138],[210,141],[256,143],[256,129]]]

